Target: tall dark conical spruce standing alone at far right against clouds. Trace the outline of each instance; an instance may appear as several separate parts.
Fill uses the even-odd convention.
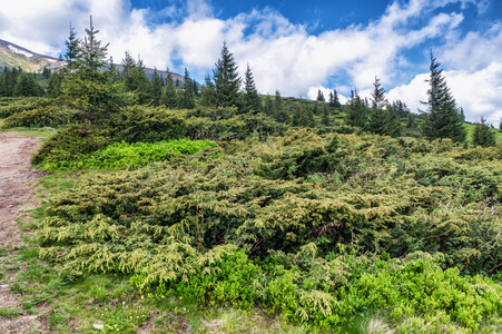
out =
[[[424,112],[422,134],[430,140],[450,138],[453,141],[462,143],[465,140],[462,117],[440,66],[431,50],[431,76],[427,80],[429,99],[423,102],[427,106],[427,110]]]

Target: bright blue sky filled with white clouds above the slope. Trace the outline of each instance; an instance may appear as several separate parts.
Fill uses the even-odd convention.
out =
[[[89,14],[116,62],[128,50],[203,81],[225,40],[263,94],[367,96],[377,76],[415,112],[432,48],[467,119],[502,118],[501,0],[18,0],[0,8],[0,38],[58,56]]]

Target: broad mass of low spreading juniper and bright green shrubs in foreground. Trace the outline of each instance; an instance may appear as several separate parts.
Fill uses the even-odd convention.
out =
[[[501,330],[502,151],[304,130],[222,147],[52,191],[39,256],[77,279],[130,276],[159,310],[258,307],[308,333]]]

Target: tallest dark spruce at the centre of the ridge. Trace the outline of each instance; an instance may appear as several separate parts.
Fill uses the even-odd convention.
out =
[[[227,43],[223,43],[222,56],[213,71],[217,106],[232,107],[238,104],[240,78],[234,56],[228,51]]]

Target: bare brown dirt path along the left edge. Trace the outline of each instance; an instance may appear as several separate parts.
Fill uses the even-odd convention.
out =
[[[10,292],[10,283],[16,282],[17,271],[6,271],[10,258],[22,246],[17,217],[27,215],[26,209],[37,205],[37,196],[30,187],[42,174],[29,168],[30,157],[40,147],[39,138],[0,132],[0,256],[3,257],[0,272],[0,312],[20,311],[20,296]],[[36,327],[37,316],[21,315],[8,318],[0,315],[0,333],[29,333]]]

